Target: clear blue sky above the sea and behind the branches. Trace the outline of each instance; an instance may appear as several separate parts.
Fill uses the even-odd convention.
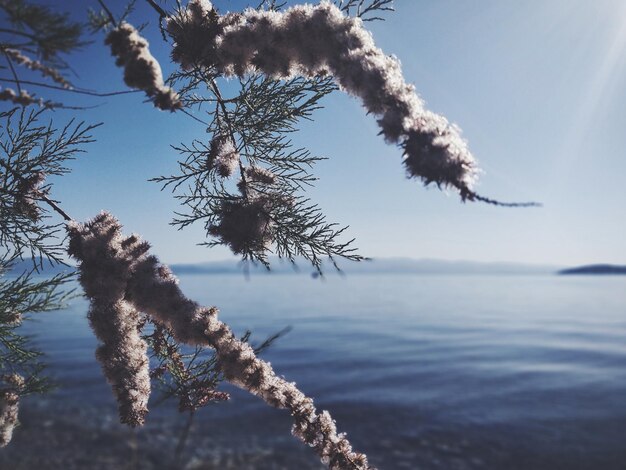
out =
[[[97,6],[95,0],[51,3],[83,18],[89,4]],[[108,5],[119,12],[122,3]],[[130,21],[150,21],[153,53],[171,70],[156,16],[138,4]],[[245,5],[214,4],[222,11]],[[336,93],[295,140],[329,157],[317,167],[311,197],[330,220],[350,225],[362,254],[626,264],[626,2],[397,0],[396,12],[385,17],[368,23],[377,44],[398,56],[429,109],[463,129],[483,170],[478,192],[544,206],[464,204],[454,193],[405,179],[400,150],[384,144],[357,100]],[[124,89],[102,39],[95,36],[72,57],[75,81]],[[110,210],[166,262],[229,256],[226,249],[196,246],[203,241],[200,227],[168,226],[177,203],[146,182],[176,171],[170,144],[210,139],[201,125],[142,104],[142,95],[63,96],[68,104],[100,104],[79,117],[104,122],[97,142],[54,190],[73,217]],[[70,114],[57,112],[55,120]]]

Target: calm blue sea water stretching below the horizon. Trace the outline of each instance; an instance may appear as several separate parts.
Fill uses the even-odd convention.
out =
[[[381,469],[626,469],[626,278],[183,276],[183,290],[253,338]],[[116,423],[86,303],[27,328],[60,388],[31,398],[2,468],[318,469],[289,416],[231,388],[184,417]]]

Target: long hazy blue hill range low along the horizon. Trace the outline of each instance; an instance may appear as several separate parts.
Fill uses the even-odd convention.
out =
[[[300,260],[296,265],[284,260],[271,259],[270,273],[313,274],[314,269]],[[346,274],[553,274],[559,268],[555,266],[541,266],[520,263],[479,263],[473,261],[443,261],[410,258],[381,258],[360,263],[351,261],[338,261],[342,272]],[[261,265],[248,264],[244,267],[236,261],[217,261],[198,264],[173,264],[172,270],[176,274],[241,274],[247,269],[252,274],[267,273]],[[331,263],[323,265],[325,274],[332,275],[336,272]]]

